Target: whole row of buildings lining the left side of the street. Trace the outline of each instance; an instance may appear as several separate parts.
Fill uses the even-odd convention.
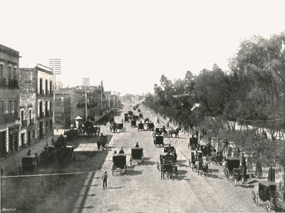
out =
[[[53,135],[53,73],[41,64],[19,68],[19,57],[18,51],[0,45],[1,157]],[[119,106],[119,95],[104,92],[103,81],[63,88],[55,94],[54,122],[58,128],[71,128],[78,115],[94,121]]]

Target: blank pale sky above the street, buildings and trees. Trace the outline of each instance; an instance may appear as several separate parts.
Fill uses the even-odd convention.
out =
[[[153,93],[171,80],[224,71],[239,43],[285,30],[285,1],[0,0],[0,43],[20,53],[20,68],[61,58],[63,85]]]

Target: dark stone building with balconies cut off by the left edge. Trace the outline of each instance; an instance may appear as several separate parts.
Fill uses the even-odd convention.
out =
[[[0,45],[1,157],[19,150],[19,51]]]

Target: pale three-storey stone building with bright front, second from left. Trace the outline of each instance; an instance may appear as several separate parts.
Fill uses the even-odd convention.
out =
[[[30,123],[31,129],[26,130],[24,141],[28,144],[29,137],[35,140],[53,134],[53,73],[41,64],[37,64],[35,68],[21,68],[21,73],[25,78],[22,82],[29,82],[21,87],[25,93],[21,93],[21,114],[24,120],[31,118],[34,125]],[[27,86],[31,88],[26,88]],[[22,130],[22,134],[25,133],[25,127]]]

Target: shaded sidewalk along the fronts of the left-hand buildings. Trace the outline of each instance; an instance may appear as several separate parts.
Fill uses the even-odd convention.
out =
[[[61,133],[63,134],[63,129],[58,129],[58,132],[54,130],[53,139],[56,142],[56,139]],[[51,146],[51,138],[48,137],[48,145]],[[41,154],[41,151],[46,146],[46,138],[43,138],[39,142],[23,148],[21,151],[16,152],[14,155],[11,155],[7,157],[6,159],[1,160],[1,167],[4,170],[3,176],[5,175],[19,175],[19,167],[21,166],[21,160],[22,157],[25,156],[28,152],[28,150],[31,150],[31,155],[35,155],[35,153],[38,154],[38,156]]]

